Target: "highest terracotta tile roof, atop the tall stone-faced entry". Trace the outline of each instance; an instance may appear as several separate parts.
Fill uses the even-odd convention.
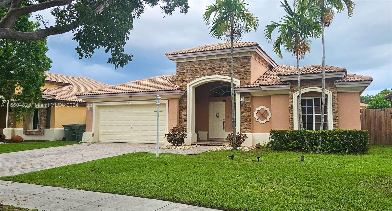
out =
[[[233,48],[243,48],[243,47],[250,47],[250,46],[258,46],[272,61],[274,61],[274,59],[272,59],[267,54],[267,52],[265,52],[263,48],[261,48],[260,45],[256,42],[233,42]],[[230,49],[230,48],[231,48],[230,43],[216,43],[211,45],[202,45],[202,46],[187,48],[183,50],[166,52],[165,55],[187,54],[187,53],[205,52],[211,50],[223,50],[223,49]],[[276,63],[276,61],[274,61],[274,63]]]

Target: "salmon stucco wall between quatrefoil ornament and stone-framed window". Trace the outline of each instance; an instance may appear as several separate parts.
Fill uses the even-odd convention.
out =
[[[289,95],[271,95],[271,129],[288,130]]]

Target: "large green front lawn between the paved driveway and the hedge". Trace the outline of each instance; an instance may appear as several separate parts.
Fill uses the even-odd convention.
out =
[[[348,156],[267,148],[158,159],[132,153],[1,179],[223,210],[392,210],[392,146]]]

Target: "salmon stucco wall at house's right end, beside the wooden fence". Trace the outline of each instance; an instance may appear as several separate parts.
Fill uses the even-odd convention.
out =
[[[359,92],[338,93],[339,129],[361,129]]]

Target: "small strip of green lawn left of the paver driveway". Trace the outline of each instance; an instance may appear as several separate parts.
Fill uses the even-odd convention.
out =
[[[39,142],[22,142],[22,143],[3,143],[0,144],[0,153],[18,152],[31,149],[40,149],[47,147],[60,147],[65,145],[76,144],[76,141],[39,141]]]

